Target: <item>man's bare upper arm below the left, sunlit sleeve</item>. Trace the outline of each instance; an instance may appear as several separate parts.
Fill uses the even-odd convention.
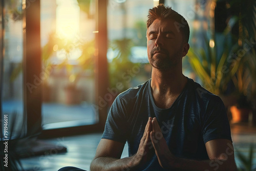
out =
[[[96,150],[95,159],[98,157],[111,157],[120,159],[124,143],[102,138]]]

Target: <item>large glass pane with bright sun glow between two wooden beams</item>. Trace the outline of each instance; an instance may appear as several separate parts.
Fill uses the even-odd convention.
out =
[[[44,129],[98,121],[94,31],[94,1],[41,1]]]

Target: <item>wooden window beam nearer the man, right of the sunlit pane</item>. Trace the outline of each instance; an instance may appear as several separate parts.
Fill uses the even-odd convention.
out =
[[[108,94],[109,87],[108,77],[108,61],[106,52],[108,50],[108,35],[107,35],[107,0],[96,0],[96,105],[98,107],[99,123],[102,129],[104,128],[108,101],[105,95]]]

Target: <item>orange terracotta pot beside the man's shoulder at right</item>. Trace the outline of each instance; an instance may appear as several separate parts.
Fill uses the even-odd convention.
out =
[[[236,105],[232,105],[230,107],[230,112],[232,114],[232,122],[248,122],[249,113],[251,112],[251,109],[238,109]]]

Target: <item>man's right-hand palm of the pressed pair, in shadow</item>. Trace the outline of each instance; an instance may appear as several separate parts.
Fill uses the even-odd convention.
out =
[[[150,137],[155,148],[158,162],[163,168],[170,168],[170,165],[172,165],[171,162],[174,161],[174,156],[169,151],[156,118],[152,120],[152,130]]]

